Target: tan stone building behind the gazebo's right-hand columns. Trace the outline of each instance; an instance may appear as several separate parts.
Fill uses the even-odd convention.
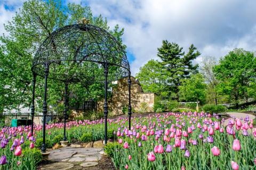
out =
[[[153,112],[156,94],[143,92],[138,79],[131,77],[131,105],[133,112]],[[121,115],[123,108],[129,104],[128,77],[113,83],[112,96],[108,99],[110,114]],[[103,112],[103,99],[97,102],[97,112]]]

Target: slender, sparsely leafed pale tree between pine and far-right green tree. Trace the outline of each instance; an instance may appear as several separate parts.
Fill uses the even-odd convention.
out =
[[[217,85],[219,84],[219,81],[214,75],[213,67],[217,64],[217,61],[214,57],[207,56],[204,57],[202,60],[202,66],[200,67],[201,73],[204,76],[205,82],[207,84],[207,100],[211,102],[212,99],[214,99],[215,104],[218,104],[218,98],[220,97]]]

